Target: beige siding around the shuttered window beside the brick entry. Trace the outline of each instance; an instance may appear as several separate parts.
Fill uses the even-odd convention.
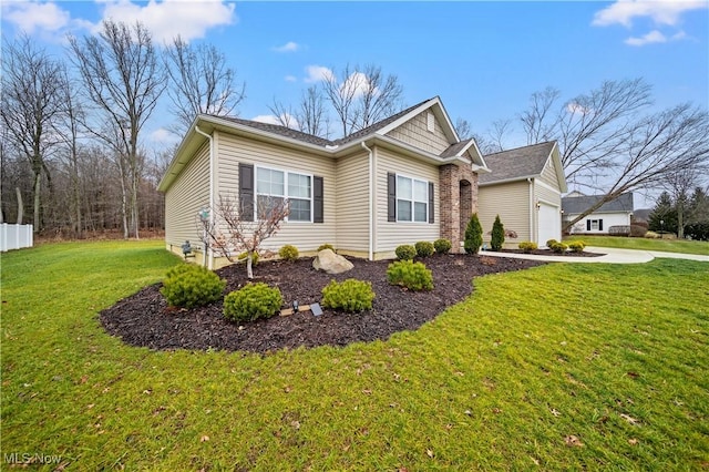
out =
[[[425,115],[424,115],[425,119]],[[425,124],[425,123],[424,123]],[[395,153],[376,148],[376,175],[377,175],[377,224],[376,253],[393,252],[401,244],[414,244],[420,240],[434,242],[440,237],[440,188],[439,168],[412,158],[397,155]],[[387,220],[387,173],[394,173],[434,184],[434,218],[435,223],[404,223]]]

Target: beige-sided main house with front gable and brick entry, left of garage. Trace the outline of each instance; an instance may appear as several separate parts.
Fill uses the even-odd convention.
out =
[[[177,254],[185,240],[199,249],[199,214],[220,196],[250,207],[270,196],[289,198],[291,213],[265,242],[269,249],[291,244],[307,254],[330,243],[373,260],[419,240],[446,238],[460,248],[479,209],[479,175],[487,172],[475,142],[459,138],[438,96],[335,141],[201,114],[158,186],[165,240]],[[209,267],[224,264],[208,256]]]

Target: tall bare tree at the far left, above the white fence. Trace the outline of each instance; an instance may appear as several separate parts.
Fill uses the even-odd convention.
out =
[[[28,35],[16,42],[3,42],[2,49],[0,116],[32,168],[33,230],[38,233],[42,228],[42,176],[47,176],[51,185],[47,160],[59,141],[54,131],[64,111],[65,78],[61,63],[37,49]]]

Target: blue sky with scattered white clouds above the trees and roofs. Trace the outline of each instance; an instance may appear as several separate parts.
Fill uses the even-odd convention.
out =
[[[66,33],[103,18],[141,20],[155,39],[176,34],[219,48],[246,82],[242,117],[267,119],[274,99],[296,104],[327,70],[347,63],[395,74],[405,104],[440,95],[451,119],[485,134],[548,85],[565,99],[604,80],[644,78],[656,106],[709,107],[709,3],[617,2],[220,2],[2,1],[2,37],[20,30],[55,54]],[[166,99],[166,98],[165,98]],[[167,100],[164,101],[165,106]],[[155,113],[144,145],[177,136]],[[517,141],[522,129],[513,123]]]

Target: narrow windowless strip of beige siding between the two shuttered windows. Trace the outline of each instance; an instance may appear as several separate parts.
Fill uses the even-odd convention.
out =
[[[369,254],[369,153],[337,162],[338,250]]]

